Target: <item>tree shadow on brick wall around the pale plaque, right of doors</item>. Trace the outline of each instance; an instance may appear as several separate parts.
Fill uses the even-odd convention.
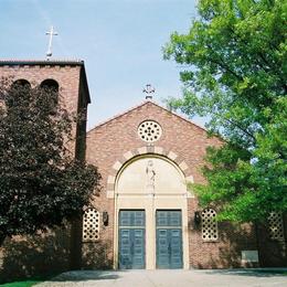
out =
[[[198,228],[196,232],[201,230]],[[272,241],[265,226],[259,225],[256,232],[254,224],[235,225],[221,222],[219,232],[219,242],[202,242],[202,251],[208,259],[199,259],[194,267],[286,267],[286,243]],[[242,262],[242,251],[258,251],[259,262]]]

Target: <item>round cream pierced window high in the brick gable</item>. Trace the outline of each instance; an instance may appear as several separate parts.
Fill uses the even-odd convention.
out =
[[[138,136],[147,142],[157,141],[161,134],[161,126],[155,120],[145,120],[138,127]]]

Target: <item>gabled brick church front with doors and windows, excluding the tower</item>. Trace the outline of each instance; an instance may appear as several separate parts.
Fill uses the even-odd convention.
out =
[[[205,183],[205,149],[221,145],[152,100],[89,130],[86,160],[98,167],[103,190],[84,212],[83,264],[89,262],[89,248],[102,243],[114,268],[284,264],[279,215],[273,214],[272,233],[266,233],[255,224],[217,222],[216,206],[199,206],[189,183]]]

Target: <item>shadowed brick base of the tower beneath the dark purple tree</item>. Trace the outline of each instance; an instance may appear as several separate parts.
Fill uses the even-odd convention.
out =
[[[0,283],[55,275],[70,267],[70,228],[7,240],[0,253]]]

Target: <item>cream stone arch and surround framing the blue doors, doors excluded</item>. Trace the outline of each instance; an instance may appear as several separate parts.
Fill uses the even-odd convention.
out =
[[[155,174],[149,184],[148,163],[152,160]],[[144,169],[142,169],[144,168]],[[172,150],[140,147],[118,159],[108,177],[107,196],[114,198],[114,268],[120,263],[120,212],[141,211],[145,216],[145,268],[157,268],[157,214],[179,212],[182,268],[189,268],[189,216],[187,181],[193,181],[187,162]],[[142,245],[144,246],[144,245]]]

